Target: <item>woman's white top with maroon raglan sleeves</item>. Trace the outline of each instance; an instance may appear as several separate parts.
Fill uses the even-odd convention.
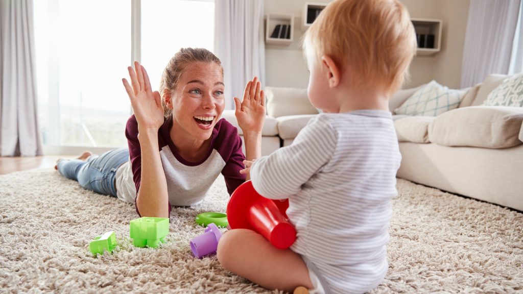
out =
[[[220,173],[225,178],[229,194],[245,182],[245,175],[240,174],[244,168],[245,155],[236,127],[220,119],[212,130],[211,144],[205,158],[199,162],[189,162],[179,155],[170,139],[172,126],[173,122],[169,120],[158,130],[158,151],[167,180],[169,213],[170,206],[190,206],[203,200]],[[142,154],[138,141],[138,122],[134,115],[127,121],[126,137],[130,160],[117,170],[117,194],[124,201],[136,203],[142,174]],[[140,214],[138,208],[137,212]]]

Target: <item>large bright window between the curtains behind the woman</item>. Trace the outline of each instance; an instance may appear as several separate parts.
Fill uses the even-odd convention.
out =
[[[214,3],[188,0],[34,0],[39,119],[46,146],[127,146],[131,115],[121,83],[135,58],[157,89],[181,47],[212,50]],[[131,5],[141,28],[131,28]],[[136,15],[136,14],[134,14]],[[139,23],[139,22],[138,22]],[[63,148],[61,150],[64,150]]]

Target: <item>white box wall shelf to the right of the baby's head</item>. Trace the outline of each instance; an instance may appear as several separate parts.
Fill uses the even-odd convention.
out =
[[[418,48],[417,56],[428,56],[441,50],[441,28],[440,19],[412,18],[412,24],[416,31]]]

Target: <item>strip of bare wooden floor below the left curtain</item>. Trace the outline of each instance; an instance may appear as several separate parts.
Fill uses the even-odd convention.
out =
[[[0,157],[0,175],[27,171],[33,168],[53,168],[58,159],[74,157],[71,155]]]

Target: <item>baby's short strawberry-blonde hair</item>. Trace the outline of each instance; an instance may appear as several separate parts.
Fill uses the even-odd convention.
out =
[[[400,88],[416,53],[407,9],[397,0],[335,0],[304,35],[304,53],[331,57],[340,70],[350,67],[353,83]]]

